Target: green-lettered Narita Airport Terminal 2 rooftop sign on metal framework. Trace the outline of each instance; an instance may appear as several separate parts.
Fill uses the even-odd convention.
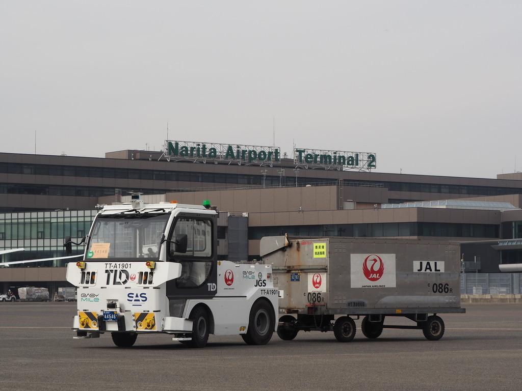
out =
[[[281,163],[281,149],[275,146],[218,144],[197,141],[165,141],[165,156],[170,161],[227,161],[244,165]],[[303,168],[371,170],[376,168],[375,153],[294,149],[294,164]]]

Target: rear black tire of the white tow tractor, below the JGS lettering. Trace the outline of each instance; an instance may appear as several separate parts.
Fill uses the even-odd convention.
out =
[[[250,310],[248,329],[241,337],[248,345],[265,345],[274,334],[276,320],[274,310],[265,300],[258,300]]]

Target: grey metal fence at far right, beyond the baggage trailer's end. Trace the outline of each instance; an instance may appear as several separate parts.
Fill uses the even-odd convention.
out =
[[[463,273],[460,277],[462,295],[520,295],[520,273]]]

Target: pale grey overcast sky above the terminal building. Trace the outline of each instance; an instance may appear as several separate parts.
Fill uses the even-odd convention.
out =
[[[520,1],[0,0],[1,152],[166,138],[522,170]]]

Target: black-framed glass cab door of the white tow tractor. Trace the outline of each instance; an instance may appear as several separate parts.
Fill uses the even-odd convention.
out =
[[[186,235],[186,249],[172,242]],[[182,265],[181,276],[167,282],[167,296],[176,306],[181,299],[212,298],[217,291],[217,214],[179,214],[169,233],[168,259]],[[184,252],[181,252],[185,250]],[[177,311],[174,311],[177,312]]]

